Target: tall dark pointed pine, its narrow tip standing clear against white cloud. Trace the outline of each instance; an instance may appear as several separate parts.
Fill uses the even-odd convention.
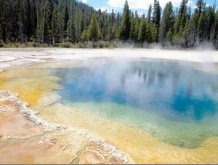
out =
[[[128,40],[130,36],[131,20],[130,20],[130,10],[129,5],[126,0],[123,11],[123,18],[121,23],[120,39]]]

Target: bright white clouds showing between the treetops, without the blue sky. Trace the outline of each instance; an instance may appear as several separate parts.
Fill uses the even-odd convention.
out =
[[[108,0],[108,5],[112,8],[123,8],[126,0]],[[161,7],[164,7],[170,0],[159,0]],[[174,7],[180,6],[182,0],[171,0]],[[128,0],[130,9],[142,9],[147,10],[150,4],[154,3],[154,0]],[[193,4],[189,1],[189,4]]]

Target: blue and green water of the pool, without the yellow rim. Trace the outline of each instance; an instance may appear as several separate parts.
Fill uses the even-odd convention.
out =
[[[176,146],[218,135],[218,71],[158,60],[96,60],[57,69],[63,102]]]

